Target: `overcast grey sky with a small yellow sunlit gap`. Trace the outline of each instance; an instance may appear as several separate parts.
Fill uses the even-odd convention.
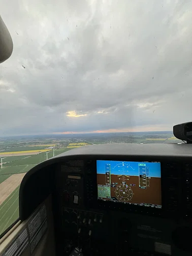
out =
[[[192,119],[192,2],[0,0],[0,136],[171,131]],[[23,67],[24,66],[24,67]]]

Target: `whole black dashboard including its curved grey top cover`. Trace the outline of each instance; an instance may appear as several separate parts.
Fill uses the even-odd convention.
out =
[[[191,255],[191,155],[190,144],[70,150],[24,176],[20,219],[52,194],[56,255]]]

